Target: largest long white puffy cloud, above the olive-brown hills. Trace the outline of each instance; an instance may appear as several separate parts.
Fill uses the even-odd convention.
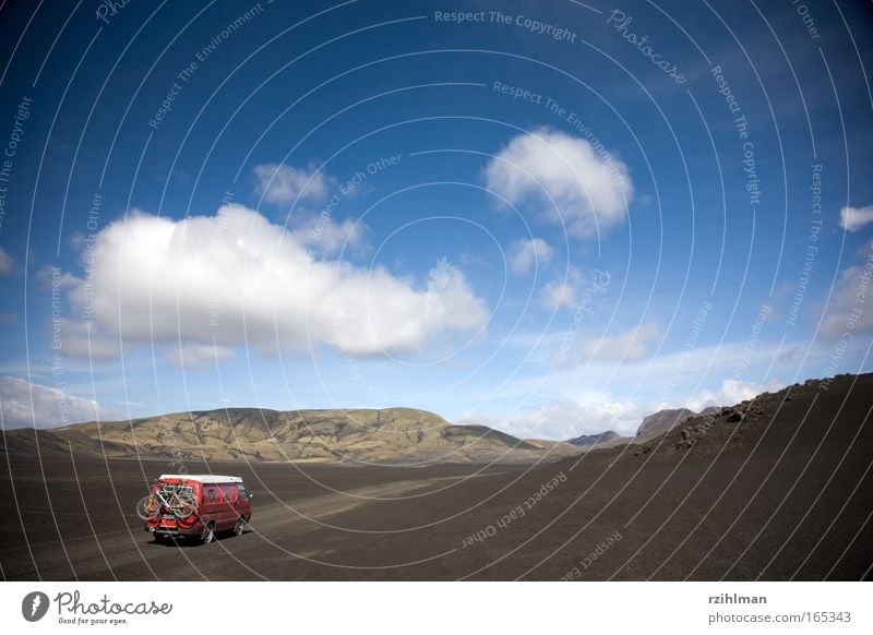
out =
[[[86,279],[67,283],[72,314],[91,320],[88,331],[64,325],[67,354],[89,332],[93,342],[125,347],[181,343],[174,355],[182,362],[214,361],[240,345],[373,356],[420,350],[488,316],[446,262],[415,285],[379,266],[319,257],[294,231],[241,205],[181,220],[132,214],[96,236],[91,265]]]

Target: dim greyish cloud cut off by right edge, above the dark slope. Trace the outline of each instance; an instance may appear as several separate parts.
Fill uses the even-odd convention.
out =
[[[860,264],[840,273],[834,286],[820,332],[826,339],[873,331],[873,239],[858,252]]]

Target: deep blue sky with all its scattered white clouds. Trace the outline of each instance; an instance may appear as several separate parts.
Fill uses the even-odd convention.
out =
[[[7,2],[4,424],[870,370],[869,4],[659,7]]]

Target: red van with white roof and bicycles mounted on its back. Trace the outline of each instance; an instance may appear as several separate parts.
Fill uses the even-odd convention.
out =
[[[240,477],[165,474],[139,502],[136,514],[155,542],[192,537],[206,543],[219,531],[241,536],[252,518],[251,499]]]

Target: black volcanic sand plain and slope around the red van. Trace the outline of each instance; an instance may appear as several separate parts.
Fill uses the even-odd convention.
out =
[[[2,576],[857,580],[873,564],[873,376],[823,388],[550,465],[189,464],[255,493],[249,531],[208,546],[142,530],[134,505],[167,464],[0,455]]]

